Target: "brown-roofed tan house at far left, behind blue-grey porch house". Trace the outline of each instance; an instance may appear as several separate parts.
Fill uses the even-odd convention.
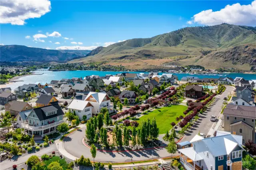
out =
[[[4,105],[5,111],[9,111],[11,115],[17,116],[19,112],[33,109],[28,103],[22,101],[12,101]]]

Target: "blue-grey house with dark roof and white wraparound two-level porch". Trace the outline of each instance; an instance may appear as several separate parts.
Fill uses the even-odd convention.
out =
[[[24,129],[22,133],[42,138],[56,132],[58,125],[66,121],[63,117],[64,113],[58,104],[34,108],[26,118],[28,122],[21,124]]]

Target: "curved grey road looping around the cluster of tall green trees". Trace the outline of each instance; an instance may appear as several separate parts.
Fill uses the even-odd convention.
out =
[[[85,158],[90,158],[93,160],[90,148],[84,146],[82,143],[83,137],[85,135],[85,128],[78,129],[77,131],[71,133],[63,140],[64,149],[72,154],[73,156],[80,157],[84,155]],[[139,160],[148,160],[153,158],[163,158],[171,156],[165,148],[157,148],[150,150],[140,150],[140,151],[129,151],[129,152],[102,152],[97,151],[95,161],[98,162],[131,162]],[[174,155],[174,154],[173,154]]]

